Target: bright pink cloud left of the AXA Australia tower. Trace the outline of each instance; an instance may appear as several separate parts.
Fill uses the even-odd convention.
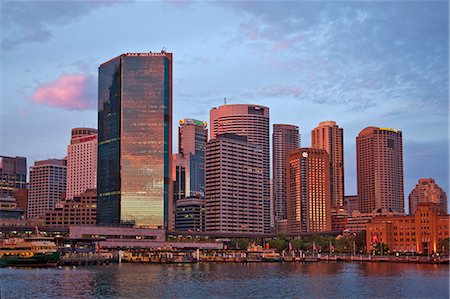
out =
[[[37,104],[66,110],[93,110],[96,98],[95,78],[84,74],[63,74],[38,86],[31,96]]]

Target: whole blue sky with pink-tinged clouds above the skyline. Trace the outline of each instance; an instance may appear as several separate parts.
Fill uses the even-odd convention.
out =
[[[173,61],[173,130],[227,103],[270,122],[344,128],[345,193],[356,141],[402,130],[405,196],[449,187],[448,1],[2,1],[0,155],[63,158],[74,127],[97,127],[98,66],[122,53]],[[174,134],[177,136],[177,134]],[[174,138],[174,149],[177,140]]]

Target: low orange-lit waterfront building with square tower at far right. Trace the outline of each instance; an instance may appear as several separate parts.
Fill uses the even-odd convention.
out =
[[[375,243],[386,244],[390,252],[444,253],[441,242],[450,237],[448,214],[433,203],[419,203],[415,215],[375,217],[366,226],[369,253]]]

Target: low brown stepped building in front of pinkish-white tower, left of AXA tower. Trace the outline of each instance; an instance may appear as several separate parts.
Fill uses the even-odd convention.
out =
[[[69,227],[70,225],[95,225],[97,222],[97,190],[88,189],[80,195],[55,204],[45,214],[45,225]]]

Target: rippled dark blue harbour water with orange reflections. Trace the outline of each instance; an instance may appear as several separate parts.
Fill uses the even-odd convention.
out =
[[[449,266],[113,264],[0,269],[0,298],[449,298]]]

